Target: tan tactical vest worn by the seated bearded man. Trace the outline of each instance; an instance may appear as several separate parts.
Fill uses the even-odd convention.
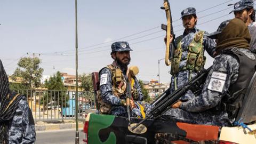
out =
[[[108,65],[106,68],[110,69],[111,71],[113,94],[116,97],[120,98],[122,95],[125,94],[126,90],[126,80],[122,73],[122,70],[120,68],[115,68],[113,64]],[[100,90],[97,91],[97,101],[100,108],[100,114],[110,114],[111,105],[102,100]]]

